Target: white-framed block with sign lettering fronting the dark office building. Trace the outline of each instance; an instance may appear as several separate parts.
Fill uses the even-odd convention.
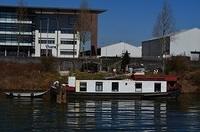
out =
[[[76,35],[77,36],[77,35]],[[47,43],[48,40],[48,43]],[[59,58],[77,58],[79,56],[79,39],[75,38],[75,44],[73,49],[73,34],[61,33],[61,31],[55,31],[55,33],[40,33],[35,31],[35,54],[33,56],[40,57],[46,56],[46,53],[50,56]]]

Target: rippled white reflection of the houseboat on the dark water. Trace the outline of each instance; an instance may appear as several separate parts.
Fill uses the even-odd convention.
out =
[[[84,101],[68,106],[67,124],[74,129],[166,130],[165,102]]]

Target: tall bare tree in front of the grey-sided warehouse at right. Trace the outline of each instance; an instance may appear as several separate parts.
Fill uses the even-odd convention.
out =
[[[167,55],[167,43],[170,42],[168,35],[175,31],[175,22],[172,16],[172,10],[165,0],[161,12],[159,13],[156,23],[153,29],[153,37],[158,37],[161,43],[161,58],[162,58],[162,70],[165,71],[165,56]]]

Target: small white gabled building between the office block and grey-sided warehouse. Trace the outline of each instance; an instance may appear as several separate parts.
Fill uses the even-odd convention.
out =
[[[121,57],[126,51],[128,51],[130,57],[139,58],[142,56],[141,47],[136,47],[125,42],[120,42],[102,47],[100,57]]]

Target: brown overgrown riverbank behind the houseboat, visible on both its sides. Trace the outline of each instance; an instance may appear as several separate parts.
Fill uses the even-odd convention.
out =
[[[175,61],[177,64],[170,64],[170,74],[175,74],[182,85],[182,93],[200,92],[200,70],[199,67],[183,64],[182,61]],[[67,82],[67,76],[61,76],[53,64],[52,59],[41,59],[41,63],[12,63],[1,62],[0,90],[1,91],[44,91],[54,81]],[[187,65],[187,67],[185,66]],[[112,76],[112,73],[98,72],[88,73],[76,71],[77,79],[103,79]]]

